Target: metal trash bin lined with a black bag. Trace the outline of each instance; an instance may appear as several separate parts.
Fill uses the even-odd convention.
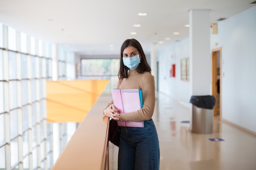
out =
[[[211,95],[191,96],[192,105],[192,133],[213,133],[213,107],[215,97]]]

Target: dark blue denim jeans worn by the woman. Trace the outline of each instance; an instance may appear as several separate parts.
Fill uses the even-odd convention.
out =
[[[159,140],[153,119],[144,128],[121,127],[118,170],[159,170]]]

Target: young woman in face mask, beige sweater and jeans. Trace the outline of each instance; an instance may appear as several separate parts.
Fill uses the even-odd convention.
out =
[[[144,128],[121,126],[118,170],[159,170],[159,141],[152,119],[155,79],[150,72],[141,44],[135,39],[125,40],[121,46],[117,88],[142,90],[143,108],[119,114],[111,99],[103,114],[114,120],[144,121]]]

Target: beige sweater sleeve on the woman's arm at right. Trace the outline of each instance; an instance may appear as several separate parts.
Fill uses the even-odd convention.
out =
[[[151,74],[143,75],[141,79],[143,108],[120,115],[121,121],[144,121],[152,118],[155,108],[155,79]]]

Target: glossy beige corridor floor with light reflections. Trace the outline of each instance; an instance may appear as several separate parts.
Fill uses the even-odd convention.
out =
[[[219,117],[214,117],[212,134],[191,133],[190,107],[158,94],[153,119],[160,143],[160,170],[256,170],[255,136]],[[117,170],[117,155],[118,147],[110,143],[110,170]]]

